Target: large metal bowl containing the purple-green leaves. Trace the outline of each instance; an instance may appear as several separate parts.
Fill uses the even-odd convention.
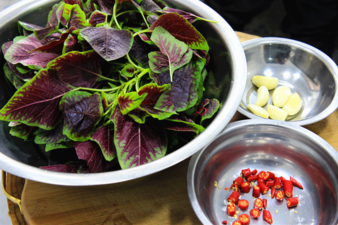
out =
[[[13,39],[17,32],[17,21],[45,26],[48,12],[57,0],[23,0],[0,12],[0,42]],[[209,68],[213,71],[210,96],[219,95],[223,104],[217,116],[204,132],[185,146],[162,159],[126,170],[97,174],[68,174],[46,171],[39,166],[47,165],[48,155],[31,142],[12,137],[6,122],[0,122],[0,168],[11,174],[50,184],[83,186],[113,184],[146,176],[168,168],[197,152],[210,142],[235,114],[243,95],[246,80],[246,61],[242,45],[232,28],[214,10],[198,0],[167,0],[172,7],[195,13],[203,18],[218,21],[197,21],[195,27],[206,37],[210,45]],[[3,57],[1,65],[4,64]],[[13,91],[0,74],[0,107],[9,100]],[[214,87],[212,86],[214,85]],[[218,88],[218,90],[217,90]]]

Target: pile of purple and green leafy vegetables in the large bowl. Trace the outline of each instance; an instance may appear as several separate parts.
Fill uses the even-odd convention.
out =
[[[165,156],[220,106],[203,97],[209,46],[196,20],[205,19],[159,0],[64,0],[45,27],[19,21],[20,36],[2,45],[17,90],[0,119],[62,159],[48,170],[102,172]]]

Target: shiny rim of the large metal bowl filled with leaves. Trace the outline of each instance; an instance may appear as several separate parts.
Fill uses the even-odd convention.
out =
[[[52,2],[56,3],[58,0],[22,0],[7,7],[0,13],[0,21],[2,22],[0,29],[5,26],[5,24],[12,21],[15,17],[14,15],[17,15],[16,13],[23,13],[31,8],[36,8]],[[245,80],[247,76],[244,50],[238,36],[230,25],[216,11],[203,2],[198,0],[171,0],[171,3],[184,5],[191,10],[200,9],[199,13],[201,13],[203,17],[218,21],[218,23],[206,23],[219,32],[228,52],[233,56],[230,58],[233,66],[233,77],[230,85],[234,91],[228,93],[226,103],[223,105],[222,109],[220,109],[218,115],[214,118],[210,125],[198,136],[198,139],[193,139],[188,144],[161,159],[138,167],[129,168],[127,170],[101,172],[95,174],[61,173],[43,170],[18,162],[0,152],[1,169],[19,177],[54,185],[92,186],[113,184],[150,175],[171,167],[190,157],[192,154],[201,149],[202,146],[210,142],[217,134],[219,134],[236,113],[244,93],[242,80]],[[228,43],[226,43],[225,40],[227,40]],[[234,79],[234,77],[236,77],[236,79]],[[220,124],[223,125],[221,126]]]

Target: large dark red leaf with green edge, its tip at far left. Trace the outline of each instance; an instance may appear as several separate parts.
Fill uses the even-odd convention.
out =
[[[61,120],[59,102],[70,91],[53,69],[42,69],[25,83],[0,110],[0,119],[21,121],[45,130],[53,129]]]

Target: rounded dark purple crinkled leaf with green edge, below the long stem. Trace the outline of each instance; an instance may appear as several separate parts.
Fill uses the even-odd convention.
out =
[[[62,97],[63,134],[73,141],[87,141],[100,121],[103,108],[99,94],[72,91]]]

